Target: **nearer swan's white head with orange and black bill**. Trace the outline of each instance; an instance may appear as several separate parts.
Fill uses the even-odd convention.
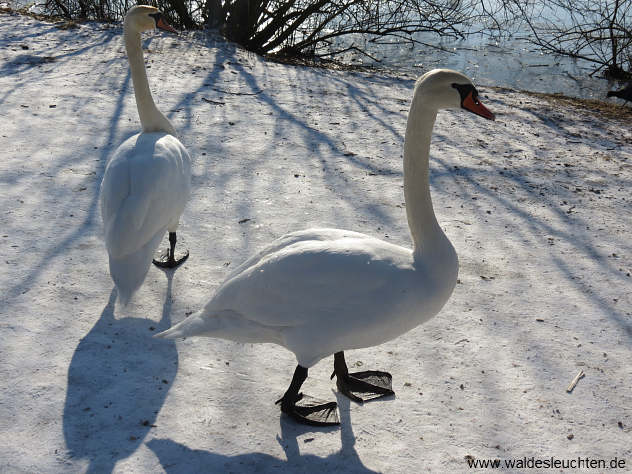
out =
[[[415,103],[433,110],[462,108],[488,120],[495,119],[480,102],[472,81],[450,69],[434,69],[421,76],[415,85]]]

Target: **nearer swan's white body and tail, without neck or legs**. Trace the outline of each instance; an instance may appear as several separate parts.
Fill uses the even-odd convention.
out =
[[[458,264],[415,262],[410,249],[358,232],[287,234],[244,262],[204,309],[163,333],[273,342],[303,367],[381,344],[448,300]]]

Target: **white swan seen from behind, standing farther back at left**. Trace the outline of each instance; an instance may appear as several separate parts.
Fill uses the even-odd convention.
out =
[[[167,230],[167,259],[154,263],[172,268],[189,255],[176,260],[174,251],[180,215],[191,192],[191,158],[171,122],[154,104],[140,43],[141,32],[155,27],[176,32],[154,7],[136,6],[125,16],[125,48],[143,131],[116,149],[101,182],[110,274],[124,304],[143,283]]]

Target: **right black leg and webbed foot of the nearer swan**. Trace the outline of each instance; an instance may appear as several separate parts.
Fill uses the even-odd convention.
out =
[[[357,403],[395,395],[391,374],[375,370],[350,374],[345,362],[345,354],[342,351],[334,354],[334,372],[331,374],[331,378],[333,379],[334,376],[338,390]]]

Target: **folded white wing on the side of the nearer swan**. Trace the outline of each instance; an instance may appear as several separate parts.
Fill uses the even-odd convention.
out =
[[[363,234],[301,237],[307,236],[290,234],[290,243],[277,241],[272,251],[240,267],[201,314],[232,310],[273,327],[344,317],[395,288],[401,270],[411,267],[410,250]]]

